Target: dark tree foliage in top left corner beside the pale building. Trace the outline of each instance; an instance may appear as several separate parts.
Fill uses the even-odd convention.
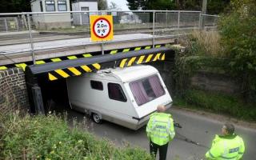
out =
[[[2,0],[0,5],[1,13],[30,12],[30,0]]]

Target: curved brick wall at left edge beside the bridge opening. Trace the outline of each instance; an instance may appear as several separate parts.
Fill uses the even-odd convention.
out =
[[[0,70],[0,112],[8,114],[14,110],[29,110],[25,74],[21,68]]]

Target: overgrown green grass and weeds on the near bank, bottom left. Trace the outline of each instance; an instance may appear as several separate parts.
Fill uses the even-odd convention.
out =
[[[78,126],[70,129],[55,115],[20,118],[14,114],[8,119],[0,142],[4,159],[152,159],[145,150],[115,148]]]

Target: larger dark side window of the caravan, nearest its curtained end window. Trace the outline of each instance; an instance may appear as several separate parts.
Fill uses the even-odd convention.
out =
[[[122,87],[117,83],[108,83],[109,98],[117,101],[126,102],[126,96],[123,93]]]

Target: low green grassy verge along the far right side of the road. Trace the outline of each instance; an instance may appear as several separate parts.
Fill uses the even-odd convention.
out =
[[[174,98],[174,104],[204,110],[218,114],[227,114],[234,118],[256,121],[256,108],[246,105],[241,98],[227,94],[209,92],[205,90],[186,90],[183,98]]]

